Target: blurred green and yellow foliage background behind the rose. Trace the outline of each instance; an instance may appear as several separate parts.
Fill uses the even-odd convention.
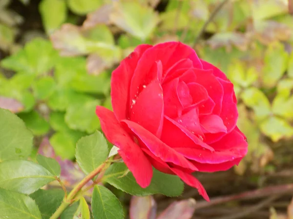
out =
[[[279,201],[238,218],[292,219],[290,1],[0,0],[0,107],[31,129],[35,152],[47,137],[57,156],[74,160],[77,140],[100,128],[95,106],[111,109],[110,77],[119,62],[139,44],[180,40],[233,82],[238,126],[249,142],[239,166],[197,174],[199,180],[211,198],[273,186],[261,199],[223,201],[222,211],[198,209],[196,218],[246,211],[277,193]],[[179,199],[188,197],[197,194],[186,188]],[[156,198],[159,209],[172,201]]]

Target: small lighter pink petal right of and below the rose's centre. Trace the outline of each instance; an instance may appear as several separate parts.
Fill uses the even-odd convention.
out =
[[[227,128],[223,123],[223,120],[218,115],[202,116],[200,118],[200,124],[204,133],[227,133]]]

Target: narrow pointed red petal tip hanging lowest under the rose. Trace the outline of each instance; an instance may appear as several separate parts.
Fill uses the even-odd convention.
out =
[[[191,187],[197,188],[199,194],[206,200],[209,201],[209,196],[204,188],[204,186],[191,174],[185,173],[177,168],[171,168],[171,170],[180,177],[183,182],[190,185]]]

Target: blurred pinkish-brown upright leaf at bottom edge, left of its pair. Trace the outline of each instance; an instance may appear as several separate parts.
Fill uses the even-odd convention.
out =
[[[152,196],[136,197],[130,200],[130,219],[155,219],[157,204]]]

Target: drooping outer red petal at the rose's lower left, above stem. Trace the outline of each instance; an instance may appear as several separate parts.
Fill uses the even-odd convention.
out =
[[[141,148],[132,141],[128,133],[122,128],[112,111],[97,106],[96,113],[101,121],[102,130],[106,138],[119,147],[119,154],[126,166],[132,172],[136,182],[146,188],[151,182],[152,166]],[[143,170],[143,171],[142,171]]]

